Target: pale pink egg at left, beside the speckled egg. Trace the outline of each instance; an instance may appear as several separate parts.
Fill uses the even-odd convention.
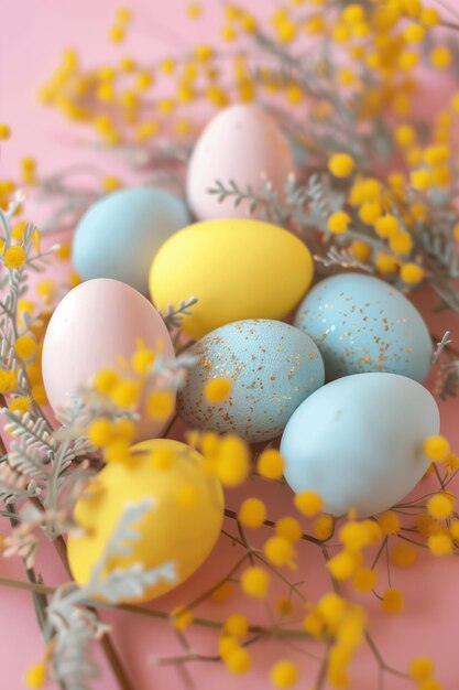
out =
[[[100,369],[116,367],[120,355],[130,360],[138,338],[164,359],[174,358],[164,321],[130,285],[98,278],[70,290],[53,313],[44,337],[43,381],[52,408],[68,405],[69,393]],[[136,440],[161,433],[165,422],[152,421],[142,408],[140,414]]]

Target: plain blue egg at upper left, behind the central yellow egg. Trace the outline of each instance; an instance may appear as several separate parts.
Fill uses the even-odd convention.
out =
[[[79,220],[73,260],[85,280],[114,278],[149,291],[149,271],[161,245],[187,226],[185,203],[155,187],[131,187],[105,196]]]

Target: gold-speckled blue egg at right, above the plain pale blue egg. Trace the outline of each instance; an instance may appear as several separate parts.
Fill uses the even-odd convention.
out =
[[[390,371],[422,381],[433,354],[416,308],[386,282],[340,273],[304,299],[295,326],[320,349],[327,380],[363,371]]]

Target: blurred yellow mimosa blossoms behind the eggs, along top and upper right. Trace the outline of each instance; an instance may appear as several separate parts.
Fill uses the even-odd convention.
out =
[[[358,174],[357,161],[349,151],[328,151],[328,160],[323,160],[324,151],[318,149],[319,164],[328,165],[338,182],[350,185],[346,206],[330,214],[325,229],[338,236],[339,246],[345,246],[356,261],[370,263],[380,276],[390,281],[400,279],[411,289],[429,278],[433,270],[416,251],[415,242],[419,226],[433,224],[424,197],[448,194],[458,173],[451,132],[459,114],[459,96],[437,114],[427,144],[411,121],[418,90],[416,67],[423,58],[434,69],[446,69],[452,62],[446,41],[440,36],[438,43],[436,39],[439,13],[417,0],[389,0],[368,7],[337,3],[327,8],[326,15],[326,0],[314,0],[306,11],[305,4],[297,0],[277,7],[266,30],[247,9],[226,3],[221,37],[236,43],[253,34],[273,41],[282,50],[308,35],[320,36],[339,52],[339,87],[345,94],[350,90],[359,96],[358,121],[373,128],[375,120],[384,120],[386,114],[395,118],[392,144],[398,160],[392,157],[395,169],[381,179]],[[199,3],[190,3],[186,14],[196,20],[201,11]],[[133,19],[128,8],[120,8],[110,40],[122,43]],[[107,145],[132,140],[150,142],[166,128],[172,128],[175,136],[187,137],[195,129],[189,106],[198,100],[215,108],[233,101],[250,103],[261,90],[267,96],[281,91],[289,108],[308,101],[313,119],[332,122],[334,99],[326,91],[321,97],[308,89],[295,69],[288,74],[281,69],[280,77],[278,71],[264,62],[256,64],[255,60],[252,64],[242,50],[231,55],[231,69],[221,68],[223,60],[227,64],[225,51],[199,43],[187,54],[165,57],[153,66],[123,55],[114,64],[85,71],[78,54],[68,48],[41,97],[70,119],[87,121]],[[321,69],[325,67],[318,63],[317,75],[313,76],[320,78]],[[161,89],[156,91],[157,84]],[[306,138],[306,143],[316,151],[314,137],[310,141]],[[114,181],[114,188],[118,184]],[[110,181],[102,181],[102,188],[113,187]]]

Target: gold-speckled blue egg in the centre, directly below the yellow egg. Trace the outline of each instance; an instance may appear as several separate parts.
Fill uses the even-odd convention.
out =
[[[208,333],[189,349],[198,358],[178,398],[195,429],[236,433],[249,442],[278,436],[292,413],[324,384],[324,364],[310,337],[280,321],[236,321]],[[230,396],[211,405],[212,378],[232,382]]]

